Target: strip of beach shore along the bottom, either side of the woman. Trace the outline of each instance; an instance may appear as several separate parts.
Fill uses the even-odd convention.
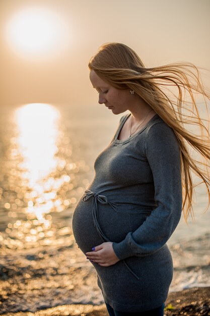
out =
[[[36,312],[8,312],[2,316],[107,316],[105,304],[60,305]],[[166,301],[165,316],[208,316],[210,315],[210,287],[191,288],[169,294]]]

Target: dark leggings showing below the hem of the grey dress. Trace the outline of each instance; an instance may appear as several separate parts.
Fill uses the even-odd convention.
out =
[[[110,316],[164,316],[164,307],[161,305],[158,308],[150,309],[147,311],[138,311],[138,312],[124,312],[114,310],[109,304],[106,303],[106,308]]]

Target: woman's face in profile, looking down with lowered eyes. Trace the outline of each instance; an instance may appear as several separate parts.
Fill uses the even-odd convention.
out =
[[[90,80],[93,87],[98,91],[100,104],[112,110],[114,114],[120,114],[129,110],[129,104],[132,102],[133,95],[128,89],[121,90],[111,86],[102,80],[94,70],[90,72]]]

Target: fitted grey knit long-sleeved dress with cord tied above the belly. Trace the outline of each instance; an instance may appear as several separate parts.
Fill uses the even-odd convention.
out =
[[[101,267],[93,262],[104,300],[124,312],[162,305],[173,276],[166,245],[182,206],[180,150],[172,129],[155,115],[126,140],[119,132],[95,161],[95,177],[78,202],[73,232],[86,253],[112,241],[120,259]]]

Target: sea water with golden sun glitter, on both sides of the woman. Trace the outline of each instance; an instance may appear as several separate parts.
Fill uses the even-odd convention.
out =
[[[101,105],[28,104],[0,112],[0,313],[101,304],[95,271],[77,247],[71,223],[96,156],[122,115]],[[170,291],[210,285],[206,202],[200,186],[195,220],[182,218],[168,242]]]

